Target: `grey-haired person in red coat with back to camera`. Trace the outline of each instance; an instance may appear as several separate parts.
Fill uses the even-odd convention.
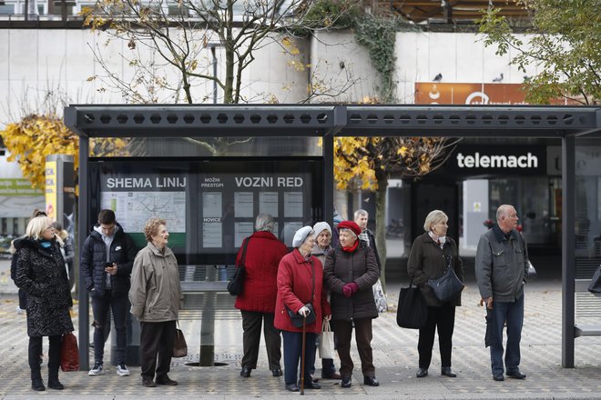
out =
[[[275,222],[271,215],[257,215],[256,232],[244,239],[244,243],[248,243],[244,260],[246,276],[242,293],[236,299],[235,306],[242,314],[244,355],[240,376],[246,378],[257,368],[261,323],[271,373],[273,376],[282,375],[281,338],[280,332],[273,325],[273,313],[278,291],[278,265],[281,257],[288,253],[288,248],[272,234],[274,227]],[[239,265],[242,257],[244,243],[238,252],[236,265]]]

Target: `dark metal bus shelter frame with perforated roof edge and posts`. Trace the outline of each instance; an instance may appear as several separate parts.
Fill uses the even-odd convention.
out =
[[[562,142],[562,365],[574,367],[576,145],[601,139],[599,106],[474,105],[70,105],[65,123],[79,135],[79,204],[89,198],[89,139],[95,137],[321,137],[323,216],[333,216],[334,140],[343,136],[555,138]],[[601,142],[600,142],[601,143]],[[78,229],[94,222],[79,207]],[[86,235],[78,237],[79,247]],[[83,287],[80,283],[80,287]],[[79,299],[79,342],[89,337],[89,304]],[[89,365],[80,352],[81,365]]]

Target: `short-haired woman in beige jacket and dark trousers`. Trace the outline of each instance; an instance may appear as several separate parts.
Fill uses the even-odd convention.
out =
[[[144,226],[148,245],[136,255],[129,289],[131,314],[140,321],[141,375],[146,387],[178,385],[167,374],[184,297],[179,285],[178,260],[167,246],[166,224],[164,219],[152,217]]]

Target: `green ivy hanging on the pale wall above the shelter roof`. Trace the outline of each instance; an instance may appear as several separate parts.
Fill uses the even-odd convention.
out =
[[[380,97],[382,103],[395,100],[394,44],[399,20],[395,16],[366,14],[355,22],[357,41],[368,48],[373,67],[380,73]]]

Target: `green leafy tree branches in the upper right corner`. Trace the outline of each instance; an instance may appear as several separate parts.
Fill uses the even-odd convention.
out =
[[[480,21],[484,45],[496,54],[516,51],[511,61],[521,71],[539,73],[525,83],[526,101],[548,104],[564,97],[581,104],[601,99],[601,11],[598,0],[519,0],[532,15],[528,43],[515,37],[506,18],[489,9]]]

